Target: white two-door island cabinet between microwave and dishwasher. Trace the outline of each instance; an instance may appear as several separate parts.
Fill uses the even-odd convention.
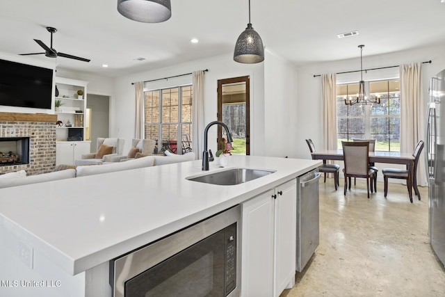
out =
[[[242,204],[241,296],[280,296],[295,283],[296,179]]]

